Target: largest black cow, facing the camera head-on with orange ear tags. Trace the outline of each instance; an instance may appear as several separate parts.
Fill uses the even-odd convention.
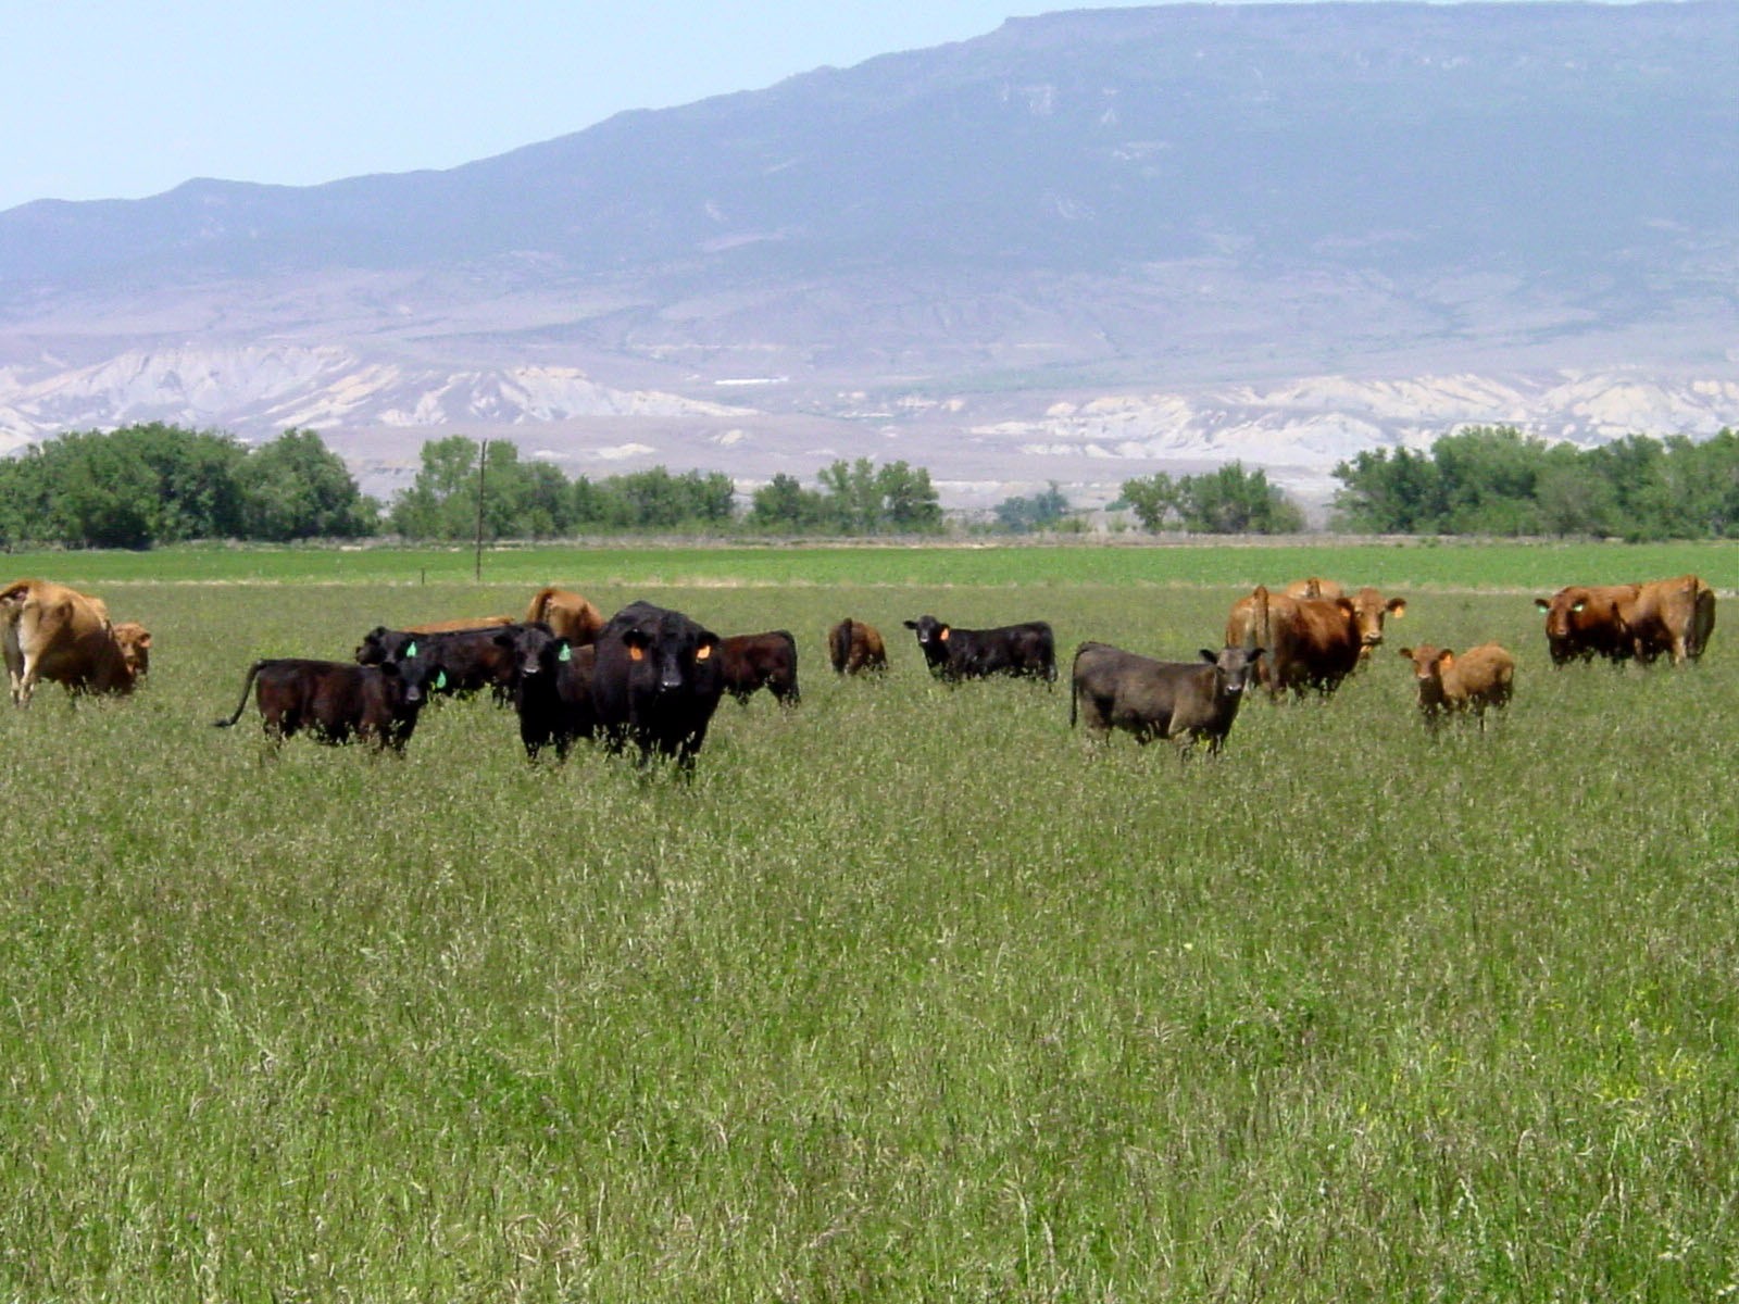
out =
[[[642,765],[656,751],[692,770],[725,690],[718,643],[711,629],[649,602],[616,612],[598,635],[591,675],[605,746],[619,753],[633,742]]]

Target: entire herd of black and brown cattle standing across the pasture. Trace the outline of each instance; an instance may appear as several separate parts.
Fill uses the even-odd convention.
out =
[[[1570,586],[1536,605],[1546,614],[1555,666],[1605,657],[1612,662],[1696,661],[1715,629],[1715,593],[1696,575]],[[1257,586],[1226,621],[1223,647],[1200,661],[1155,661],[1109,643],[1075,652],[1069,725],[1104,737],[1113,729],[1137,741],[1181,739],[1217,751],[1250,683],[1283,694],[1332,694],[1383,643],[1386,615],[1403,615],[1405,598],[1374,588],[1348,593],[1325,579],[1269,591]],[[1045,621],[965,629],[934,615],[906,621],[939,680],[993,675],[1057,678],[1056,636]],[[0,589],[0,643],[12,701],[30,702],[40,680],[71,692],[127,694],[150,669],[151,635],[137,622],[113,622],[99,598],[64,584],[19,579]],[[1497,643],[1459,655],[1431,645],[1405,647],[1419,709],[1428,723],[1509,701],[1515,657]],[[887,669],[882,635],[845,619],[828,631],[838,675]],[[689,768],[723,694],[746,701],[765,689],[783,706],[800,701],[796,640],[784,629],[718,636],[682,612],[635,602],[603,614],[577,593],[543,588],[523,619],[510,615],[443,621],[407,629],[370,629],[353,661],[271,657],[242,682],[235,725],[252,695],[266,735],[310,732],[322,742],[363,739],[402,751],[433,694],[489,690],[511,702],[530,758],[551,748],[565,758],[576,741],[607,751],[633,746]]]

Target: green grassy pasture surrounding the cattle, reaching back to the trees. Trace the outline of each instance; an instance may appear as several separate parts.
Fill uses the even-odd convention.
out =
[[[1739,549],[9,560],[155,647],[0,716],[3,1299],[1739,1290]],[[1536,593],[1689,569],[1701,666],[1549,668]],[[1069,730],[1082,640],[1189,659],[1311,572],[1410,602],[1334,699]],[[722,702],[692,782],[487,699],[403,760],[210,727],[543,582],[791,629],[803,702]],[[1063,678],[934,683],[922,612],[1049,619]],[[1487,638],[1515,702],[1429,735],[1395,649]]]

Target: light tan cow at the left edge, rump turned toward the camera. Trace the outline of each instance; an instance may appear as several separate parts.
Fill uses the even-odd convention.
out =
[[[129,694],[151,666],[143,624],[111,624],[99,598],[45,579],[0,591],[0,645],[17,706],[30,706],[40,680],[75,694]]]

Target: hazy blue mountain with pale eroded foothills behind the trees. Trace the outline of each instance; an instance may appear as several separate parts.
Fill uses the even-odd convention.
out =
[[[1708,431],[1736,68],[1730,0],[1078,10],[447,172],[30,203],[0,440],[294,422],[388,475],[489,428],[574,468],[903,456],[965,497],[1320,478],[1456,421]]]

